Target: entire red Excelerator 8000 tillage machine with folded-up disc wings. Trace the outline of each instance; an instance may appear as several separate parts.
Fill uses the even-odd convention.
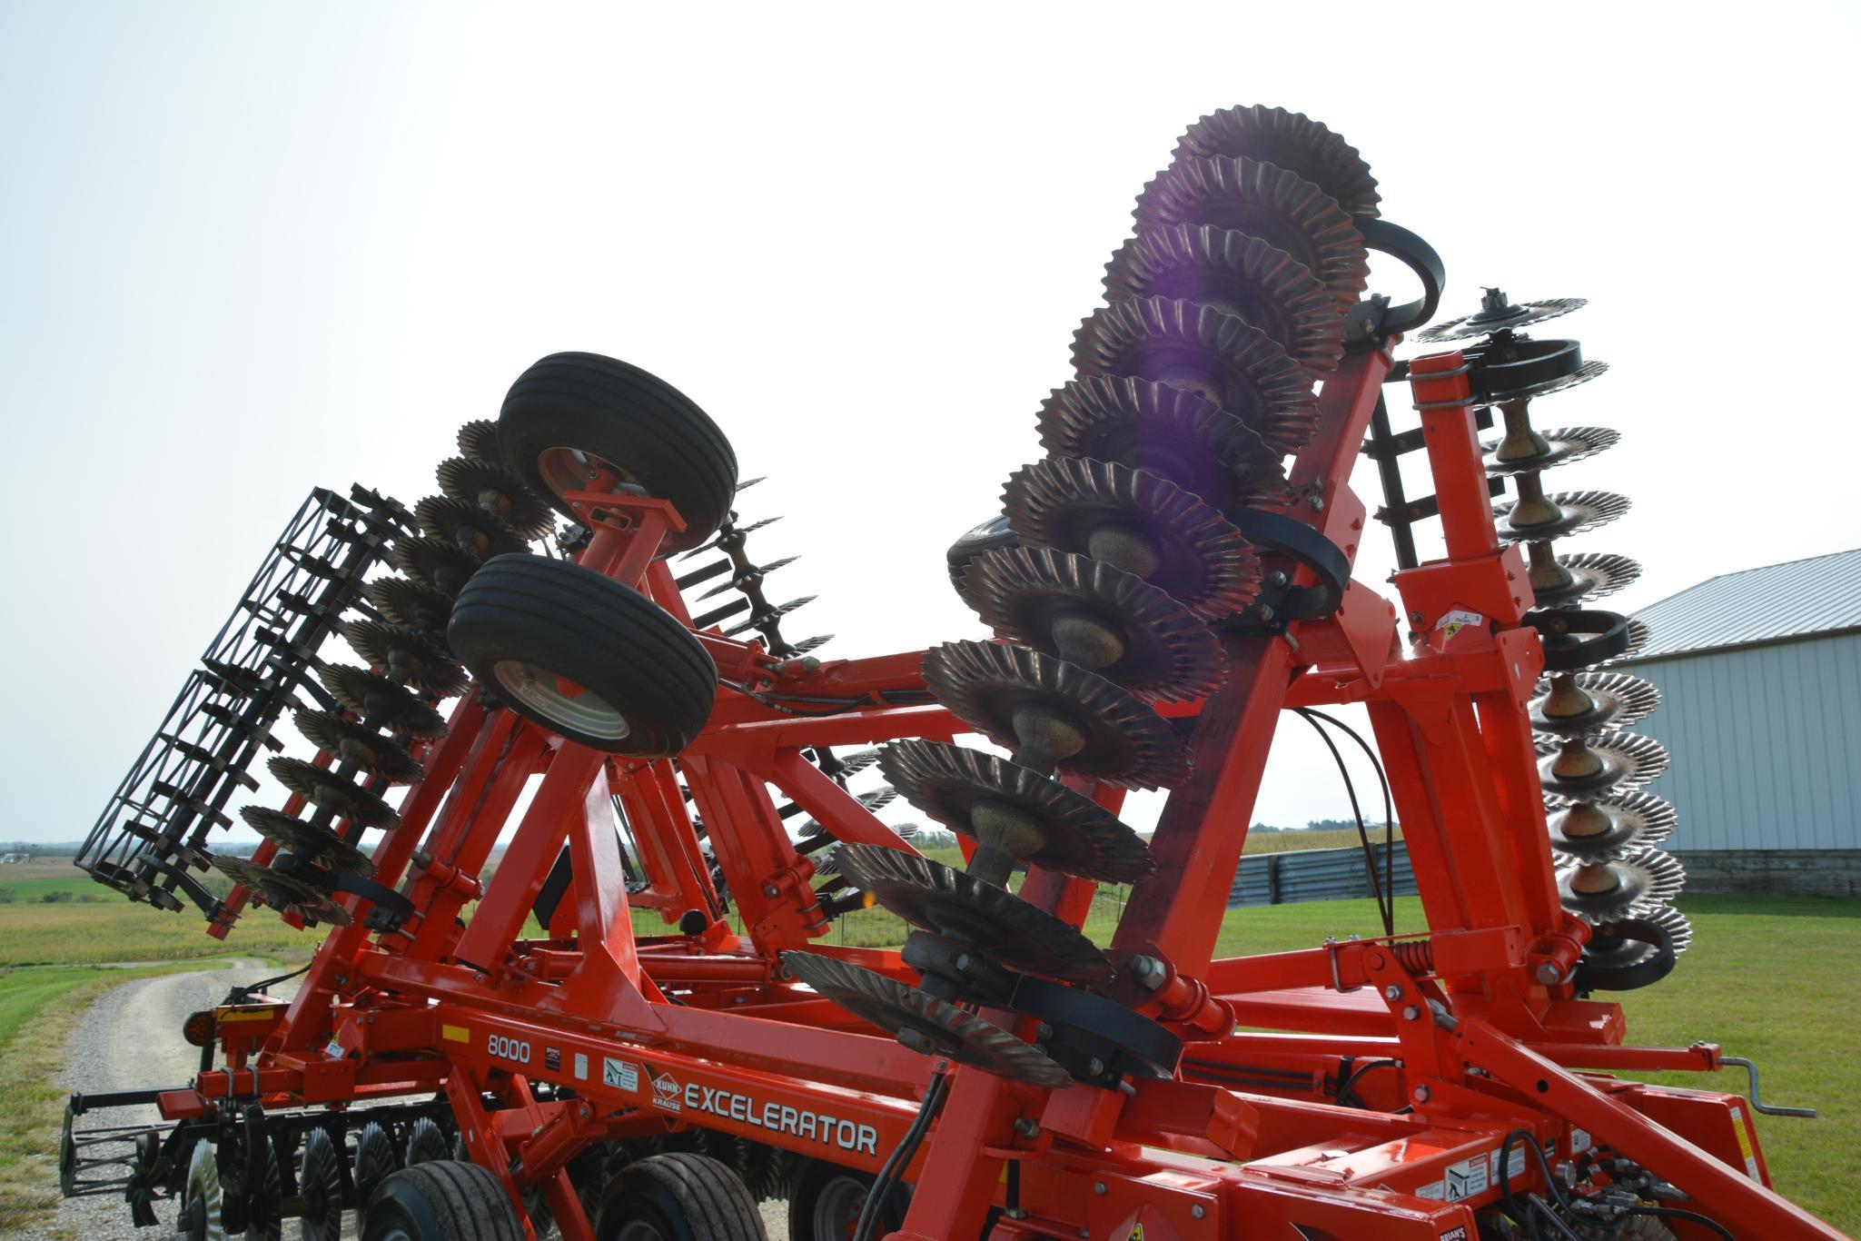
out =
[[[1303,115],[1184,134],[1046,456],[951,547],[992,642],[783,636],[808,599],[765,595],[787,560],[750,556],[730,443],[609,357],[530,367],[411,510],[313,493],[78,865],[214,936],[255,904],[326,936],[288,997],[188,1021],[194,1081],[73,1096],[65,1193],[316,1241],[348,1209],[370,1239],[759,1237],[759,1198],[793,1237],[1837,1235],[1768,1189],[1755,1070],[1749,1101],[1613,1075],[1747,1064],[1634,1046],[1595,997],[1690,928],[1641,791],[1667,754],[1628,731],[1658,692],[1608,670],[1647,634],[1597,607],[1640,566],[1563,545],[1628,500],[1543,486],[1617,439],[1539,424],[1606,370],[1539,335],[1582,301],[1424,327],[1442,264],[1377,205]],[[1368,294],[1372,253],[1422,296]],[[1388,599],[1351,577],[1372,521]],[[1275,722],[1338,703],[1427,930],[1215,960]],[[288,796],[216,850],[261,759]],[[1148,841],[1131,789],[1169,791]],[[1109,949],[1098,884],[1131,884]],[[871,906],[903,951],[826,945]],[[89,1120],[130,1103],[167,1124]]]

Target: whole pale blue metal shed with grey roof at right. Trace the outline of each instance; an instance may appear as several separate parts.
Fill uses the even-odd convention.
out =
[[[1690,893],[1861,895],[1861,549],[1723,573],[1641,608],[1617,664],[1673,767]]]

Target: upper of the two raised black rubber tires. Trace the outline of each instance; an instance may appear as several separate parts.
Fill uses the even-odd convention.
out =
[[[575,519],[540,458],[573,448],[623,471],[648,495],[672,500],[685,530],[663,551],[690,551],[730,515],[737,454],[716,422],[664,380],[601,354],[551,354],[517,376],[497,417],[504,460],[530,489]]]

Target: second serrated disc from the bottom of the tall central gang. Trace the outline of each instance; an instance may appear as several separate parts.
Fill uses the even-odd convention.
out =
[[[839,873],[912,927],[977,949],[1009,969],[1061,982],[1107,982],[1111,960],[1074,927],[1005,887],[917,854],[841,845]]]

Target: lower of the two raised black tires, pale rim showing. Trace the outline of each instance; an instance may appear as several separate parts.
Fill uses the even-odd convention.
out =
[[[692,742],[716,700],[703,644],[646,595],[594,569],[545,556],[497,556],[465,584],[447,623],[452,653],[517,714],[609,754],[668,757]],[[622,737],[549,718],[497,677],[521,661],[601,698]]]

